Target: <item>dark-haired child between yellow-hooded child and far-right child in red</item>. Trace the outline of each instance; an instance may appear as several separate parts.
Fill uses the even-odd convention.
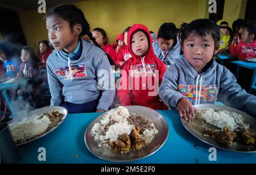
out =
[[[242,34],[243,30],[246,27],[246,22],[243,19],[237,19],[236,21],[233,22],[232,24],[232,29],[234,32],[234,43],[238,44],[242,41]]]

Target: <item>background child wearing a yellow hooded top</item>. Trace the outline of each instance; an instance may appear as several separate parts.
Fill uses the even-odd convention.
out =
[[[217,24],[220,23],[220,21],[217,22]],[[222,21],[220,23],[220,48],[218,52],[228,52],[229,51],[229,44],[232,41],[232,30],[229,27],[229,23]]]

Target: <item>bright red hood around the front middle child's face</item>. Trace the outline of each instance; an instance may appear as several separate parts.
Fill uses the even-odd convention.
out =
[[[146,59],[153,59],[155,56],[154,50],[152,48],[152,38],[150,35],[150,31],[148,31],[148,28],[146,26],[144,26],[143,24],[133,24],[133,26],[131,26],[131,28],[129,29],[128,32],[128,36],[127,36],[127,46],[129,49],[129,52],[131,53],[131,55],[136,58],[136,59],[142,59],[141,56],[137,56],[133,53],[132,49],[131,49],[131,37],[133,36],[135,31],[141,30],[143,32],[145,32],[145,34],[147,35],[147,39],[148,41],[148,51],[145,55],[145,60]]]

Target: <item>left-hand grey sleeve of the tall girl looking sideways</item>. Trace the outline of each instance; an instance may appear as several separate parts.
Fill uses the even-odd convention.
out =
[[[60,83],[55,73],[52,72],[52,68],[50,68],[48,62],[47,62],[47,78],[48,78],[49,90],[51,93],[51,106],[60,106],[61,101],[63,101],[64,99],[62,95],[63,85]]]

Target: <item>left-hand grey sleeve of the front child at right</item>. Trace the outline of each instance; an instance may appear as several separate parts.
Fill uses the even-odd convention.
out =
[[[159,97],[166,103],[169,109],[177,108],[177,102],[180,98],[187,98],[177,91],[179,88],[178,72],[179,70],[176,66],[171,65],[166,73],[164,73],[163,82],[159,87]]]

